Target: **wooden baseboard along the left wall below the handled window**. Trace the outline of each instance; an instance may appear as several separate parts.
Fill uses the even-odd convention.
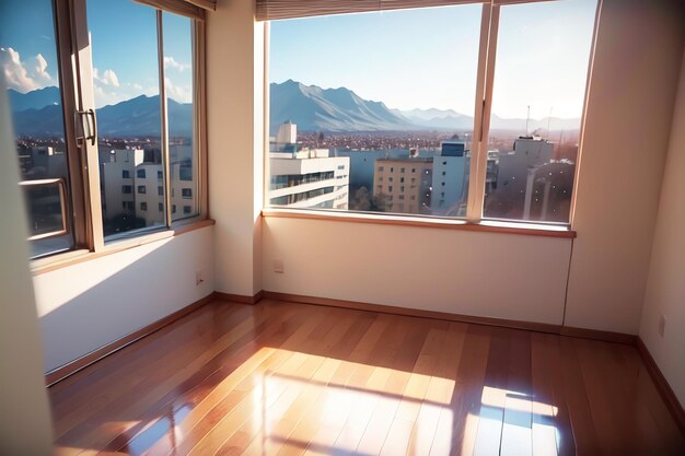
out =
[[[135,341],[142,339],[143,337],[149,336],[152,332],[155,332],[162,329],[163,327],[167,325],[171,325],[175,320],[188,315],[190,312],[200,308],[201,306],[204,306],[205,304],[213,300],[214,300],[214,293],[210,293],[209,295],[202,297],[201,300],[198,300],[194,302],[193,304],[187,305],[183,307],[182,309],[176,311],[173,314],[167,315],[164,318],[161,318],[154,321],[151,325],[146,326],[144,328],[140,328],[137,331],[129,334],[128,336],[124,336],[123,338],[115,340],[114,342],[107,343],[106,346],[103,346],[98,348],[97,350],[93,350],[92,352],[84,354],[83,356],[68,364],[65,364],[61,367],[57,367],[48,372],[47,374],[45,374],[46,386],[55,385],[56,383],[67,378],[68,376],[76,374],[82,369],[96,363],[103,358],[108,356],[109,354],[121,350],[124,347],[127,347],[133,343]]]

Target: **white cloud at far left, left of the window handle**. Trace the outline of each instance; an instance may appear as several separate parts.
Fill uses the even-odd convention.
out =
[[[57,84],[47,71],[47,60],[40,54],[22,61],[21,55],[13,48],[0,47],[0,68],[8,87],[15,91],[26,93]]]

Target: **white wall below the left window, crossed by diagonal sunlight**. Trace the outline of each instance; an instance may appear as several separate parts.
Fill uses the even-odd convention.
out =
[[[213,226],[34,277],[45,372],[213,291]],[[195,284],[202,270],[205,282]]]

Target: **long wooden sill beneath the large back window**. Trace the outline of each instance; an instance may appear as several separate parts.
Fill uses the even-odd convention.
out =
[[[293,209],[264,209],[262,211],[264,218],[283,218],[283,219],[306,219],[306,220],[327,220],[336,222],[349,223],[372,223],[378,225],[396,225],[396,226],[422,226],[443,230],[461,230],[475,231],[481,233],[503,233],[518,234],[524,236],[544,236],[544,237],[562,237],[574,238],[576,232],[567,226],[500,222],[500,221],[483,221],[480,223],[468,223],[464,220],[433,219],[421,217],[405,215],[380,215],[371,213],[358,212],[335,212],[335,211],[314,211],[314,210],[293,210]]]

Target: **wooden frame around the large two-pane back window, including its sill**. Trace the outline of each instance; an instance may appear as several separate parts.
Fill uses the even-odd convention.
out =
[[[488,138],[490,133],[490,120],[491,120],[491,107],[492,107],[492,89],[495,82],[496,72],[496,57],[497,57],[497,44],[499,36],[499,19],[501,7],[521,3],[537,3],[537,2],[555,2],[561,0],[490,0],[481,2],[481,21],[480,21],[480,39],[478,49],[478,67],[476,74],[476,95],[475,95],[475,110],[474,110],[474,130],[473,130],[473,143],[472,143],[472,159],[469,166],[469,182],[468,182],[468,195],[466,201],[466,214],[463,218],[444,218],[439,215],[423,215],[423,214],[406,214],[395,212],[364,212],[353,210],[335,210],[335,209],[322,209],[322,208],[279,208],[274,207],[269,202],[269,185],[270,171],[269,171],[269,112],[270,112],[270,97],[269,97],[269,40],[270,40],[270,21],[264,21],[264,182],[263,182],[263,215],[266,217],[288,217],[289,213],[293,218],[306,218],[302,217],[302,213],[312,212],[314,219],[330,219],[340,220],[346,217],[353,218],[356,221],[359,218],[368,218],[370,223],[378,223],[380,220],[387,218],[393,222],[391,224],[414,224],[417,226],[432,226],[439,223],[445,223],[446,227],[453,227],[454,225],[466,224],[469,226],[483,226],[484,231],[494,232],[492,227],[502,226],[503,232],[511,233],[512,231],[523,230],[529,233],[539,234],[545,230],[545,226],[549,229],[549,235],[554,237],[569,237],[566,235],[559,235],[559,230],[562,233],[570,234],[570,237],[576,236],[573,231],[573,220],[576,212],[576,200],[578,195],[578,177],[580,173],[580,163],[582,156],[582,145],[584,137],[585,114],[588,107],[588,97],[590,92],[590,82],[592,74],[592,67],[594,62],[594,52],[596,44],[596,35],[599,27],[599,19],[602,11],[603,0],[596,0],[595,13],[594,13],[594,26],[592,31],[592,38],[589,51],[589,61],[587,68],[585,90],[583,96],[583,107],[580,116],[579,125],[579,145],[578,155],[576,161],[576,171],[573,176],[573,191],[570,199],[569,208],[569,221],[568,223],[536,221],[536,220],[510,220],[510,219],[497,219],[485,218],[485,191],[487,180],[487,159],[488,159]],[[476,1],[474,1],[476,3]],[[456,4],[456,3],[455,3]],[[410,7],[409,9],[419,9],[420,7]],[[430,8],[430,7],[426,7]],[[359,13],[363,13],[360,11]],[[312,14],[303,15],[302,17],[311,16]],[[374,166],[374,169],[376,166]],[[436,223],[425,223],[426,220],[432,220]],[[414,223],[416,222],[416,223]]]

